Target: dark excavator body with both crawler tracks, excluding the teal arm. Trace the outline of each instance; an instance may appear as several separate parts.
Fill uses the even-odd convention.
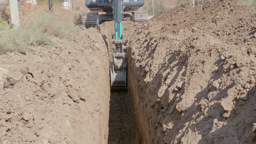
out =
[[[85,5],[90,12],[83,13],[83,24],[86,28],[97,26],[105,21],[114,20],[113,5],[115,0],[85,0]],[[147,11],[136,11],[144,5],[144,0],[123,0],[123,20],[137,23],[148,21]],[[98,14],[105,12],[104,14]]]

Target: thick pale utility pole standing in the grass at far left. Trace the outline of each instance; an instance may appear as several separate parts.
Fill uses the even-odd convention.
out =
[[[20,27],[18,1],[10,0],[10,8],[11,8],[12,23],[14,24],[15,27]]]

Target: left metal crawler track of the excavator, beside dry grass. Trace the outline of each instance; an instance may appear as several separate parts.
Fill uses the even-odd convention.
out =
[[[83,13],[83,24],[86,28],[99,25],[99,16],[97,12]]]

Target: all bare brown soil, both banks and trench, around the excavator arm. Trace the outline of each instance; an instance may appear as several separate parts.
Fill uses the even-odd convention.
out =
[[[255,10],[211,1],[124,21],[127,91],[110,92],[113,22],[1,55],[0,143],[255,143]]]

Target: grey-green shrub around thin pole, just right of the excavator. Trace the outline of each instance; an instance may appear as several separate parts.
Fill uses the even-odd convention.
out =
[[[158,14],[163,10],[169,9],[170,7],[167,5],[166,0],[154,0],[154,14]],[[144,11],[148,11],[149,15],[153,15],[153,5],[152,1],[150,1],[144,7]]]

